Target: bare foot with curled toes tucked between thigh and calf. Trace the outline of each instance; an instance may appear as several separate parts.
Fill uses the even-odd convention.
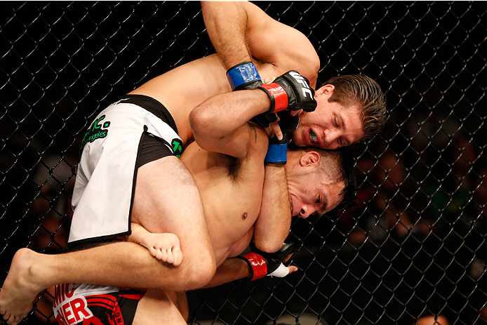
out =
[[[178,236],[171,233],[147,234],[146,236],[142,246],[145,246],[154,258],[174,266],[181,264],[182,251]]]

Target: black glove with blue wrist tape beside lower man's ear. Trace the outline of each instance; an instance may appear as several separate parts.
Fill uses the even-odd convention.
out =
[[[288,161],[288,133],[294,131],[299,124],[298,115],[292,116],[291,112],[277,113],[279,116],[279,128],[282,131],[282,140],[275,135],[269,139],[269,147],[265,156],[265,164],[286,164]]]

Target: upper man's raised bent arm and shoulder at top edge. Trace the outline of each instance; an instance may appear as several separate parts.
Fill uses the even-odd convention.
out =
[[[201,8],[208,36],[226,69],[255,58],[271,63],[277,75],[298,70],[316,87],[319,57],[297,29],[248,1],[201,1]]]

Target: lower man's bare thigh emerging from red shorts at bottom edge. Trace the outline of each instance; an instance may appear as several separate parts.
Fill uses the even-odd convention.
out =
[[[162,290],[151,289],[137,305],[133,325],[187,324],[173,300]]]

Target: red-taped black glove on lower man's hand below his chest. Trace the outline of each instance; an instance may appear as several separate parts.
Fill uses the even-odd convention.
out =
[[[275,253],[265,253],[256,248],[255,244],[251,242],[251,253],[236,257],[245,260],[248,266],[251,267],[251,275],[247,279],[256,280],[277,270],[284,258],[289,254],[298,251],[298,248],[298,243],[286,239],[279,251],[276,251]]]

